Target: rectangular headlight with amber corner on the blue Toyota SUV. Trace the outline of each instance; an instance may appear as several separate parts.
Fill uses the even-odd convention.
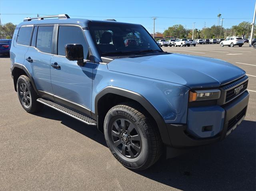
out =
[[[220,98],[220,90],[196,90],[189,92],[189,102]]]

